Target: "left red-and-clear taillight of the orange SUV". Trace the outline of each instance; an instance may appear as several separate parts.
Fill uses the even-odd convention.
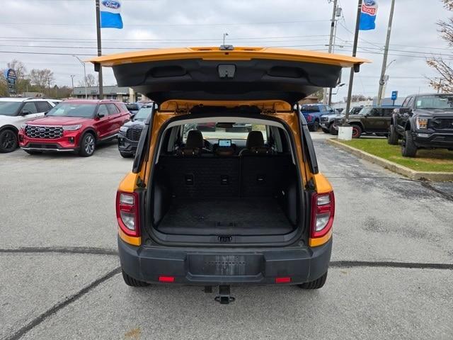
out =
[[[139,196],[137,193],[116,194],[116,218],[122,232],[132,237],[140,236],[139,229]]]

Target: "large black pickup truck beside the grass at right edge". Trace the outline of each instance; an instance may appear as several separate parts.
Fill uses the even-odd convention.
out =
[[[421,148],[453,150],[453,94],[408,96],[391,118],[387,140],[398,145],[399,139],[404,157]]]

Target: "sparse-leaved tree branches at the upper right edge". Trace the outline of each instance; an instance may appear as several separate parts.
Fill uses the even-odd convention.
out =
[[[453,11],[453,0],[442,0],[445,8]],[[447,21],[437,21],[439,27],[440,38],[448,42],[448,45],[453,47],[453,17]],[[453,92],[453,67],[448,59],[442,56],[433,57],[426,61],[428,66],[436,70],[440,77],[428,78],[428,81],[433,89],[442,92]]]

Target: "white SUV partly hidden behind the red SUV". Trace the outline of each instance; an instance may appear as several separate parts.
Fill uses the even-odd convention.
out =
[[[43,98],[0,98],[0,152],[17,149],[17,133],[21,125],[42,117],[59,102]]]

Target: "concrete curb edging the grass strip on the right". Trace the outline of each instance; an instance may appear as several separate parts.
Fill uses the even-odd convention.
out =
[[[349,145],[345,145],[335,139],[328,139],[326,142],[330,145],[346,150],[360,159],[365,159],[368,162],[382,166],[384,169],[396,172],[396,174],[406,176],[409,179],[416,181],[453,181],[452,172],[415,171],[406,166],[387,161],[386,159],[374,156],[373,154],[369,154],[368,152],[362,151],[355,147],[350,147]]]

